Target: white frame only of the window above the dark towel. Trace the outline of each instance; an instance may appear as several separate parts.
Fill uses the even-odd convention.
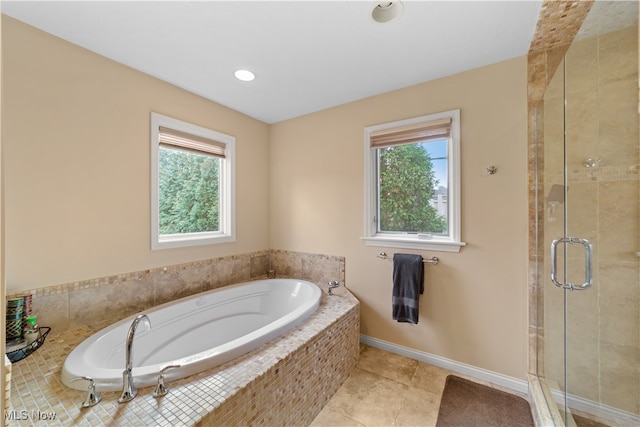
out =
[[[447,145],[447,186],[448,186],[448,235],[385,233],[378,232],[377,224],[377,156],[371,148],[371,134],[381,130],[400,128],[438,119],[451,119],[451,137]],[[364,236],[368,246],[390,248],[459,252],[465,243],[460,240],[460,110],[440,113],[368,126],[364,129]]]

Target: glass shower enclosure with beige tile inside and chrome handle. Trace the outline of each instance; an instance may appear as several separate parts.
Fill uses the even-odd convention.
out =
[[[596,1],[538,118],[538,372],[565,425],[640,425],[638,101],[638,2]]]

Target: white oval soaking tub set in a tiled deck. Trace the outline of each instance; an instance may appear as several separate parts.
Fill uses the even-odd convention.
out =
[[[221,365],[284,335],[313,314],[322,291],[311,282],[267,279],[246,282],[185,297],[143,311],[151,329],[140,322],[133,339],[136,387],[157,383],[165,372],[175,380]],[[88,376],[97,390],[122,390],[125,339],[136,315],[95,333],[69,353],[62,382],[86,390]]]

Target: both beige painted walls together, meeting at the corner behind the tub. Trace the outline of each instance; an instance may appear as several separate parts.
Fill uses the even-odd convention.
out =
[[[362,333],[525,378],[526,58],[272,126],[3,17],[7,292],[266,248],[346,257]],[[9,41],[8,41],[9,40]],[[393,322],[363,232],[363,128],[461,109],[460,253]],[[149,112],[237,138],[238,241],[149,249]],[[498,173],[485,175],[488,166]]]

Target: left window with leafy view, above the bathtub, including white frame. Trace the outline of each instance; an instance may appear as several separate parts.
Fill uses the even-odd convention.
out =
[[[235,138],[151,113],[151,248],[235,241]]]

